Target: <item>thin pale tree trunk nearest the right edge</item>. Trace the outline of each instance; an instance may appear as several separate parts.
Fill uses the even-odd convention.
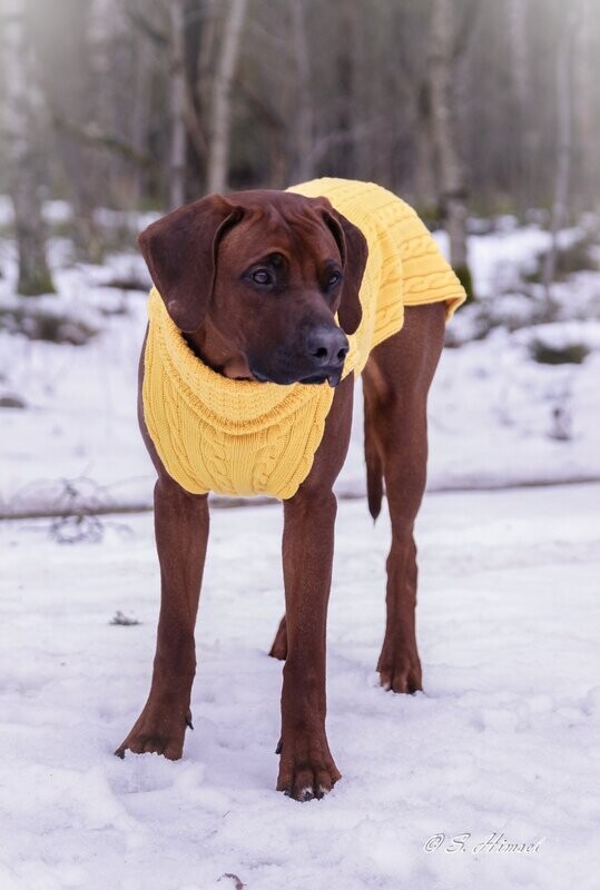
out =
[[[547,315],[552,317],[552,281],[557,270],[558,236],[567,221],[569,189],[571,181],[572,118],[573,118],[573,60],[581,20],[582,2],[573,0],[567,12],[567,22],[560,38],[555,69],[557,96],[557,160],[554,175],[554,200],[550,220],[550,249],[544,259],[542,281],[545,294]]]

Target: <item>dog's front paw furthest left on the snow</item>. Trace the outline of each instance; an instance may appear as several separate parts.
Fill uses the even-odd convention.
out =
[[[168,760],[179,760],[184,753],[187,726],[194,729],[189,710],[160,709],[148,702],[115,754],[121,760],[126,751],[134,754],[163,754]]]

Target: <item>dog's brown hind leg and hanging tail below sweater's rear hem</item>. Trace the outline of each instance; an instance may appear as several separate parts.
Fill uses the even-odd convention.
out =
[[[394,692],[422,688],[413,530],[425,491],[427,392],[443,340],[443,304],[407,307],[404,327],[373,350],[363,374],[368,506],[376,518],[383,476],[392,522],[387,617],[377,671],[382,685]]]

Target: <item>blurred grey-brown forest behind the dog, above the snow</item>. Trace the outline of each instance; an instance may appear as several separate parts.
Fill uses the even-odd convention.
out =
[[[464,277],[469,215],[593,209],[599,58],[596,0],[0,0],[18,290],[51,290],[45,199],[100,261],[99,207],[323,175],[445,225]]]

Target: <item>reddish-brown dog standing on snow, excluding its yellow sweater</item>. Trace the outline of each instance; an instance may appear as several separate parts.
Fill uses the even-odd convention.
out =
[[[325,624],[333,485],[348,446],[354,388],[354,375],[342,373],[346,334],[361,323],[367,240],[325,198],[249,191],[179,208],[142,233],[139,244],[191,360],[235,385],[254,380],[285,393],[299,385],[302,392],[333,395],[312,467],[284,498],[286,615],[271,650],[286,660],[277,789],[296,800],[321,798],[340,779],[325,734]],[[372,349],[363,374],[368,505],[376,517],[384,481],[393,533],[377,670],[382,685],[394,692],[422,688],[413,524],[425,486],[426,398],[444,339],[444,300],[434,295],[424,305],[407,305],[402,328]],[[148,363],[142,354],[140,393]],[[208,504],[206,493],[190,492],[166,471],[148,417],[140,395],[141,432],[158,473],[160,617],[148,701],[116,754],[129,749],[178,759],[191,726]]]

